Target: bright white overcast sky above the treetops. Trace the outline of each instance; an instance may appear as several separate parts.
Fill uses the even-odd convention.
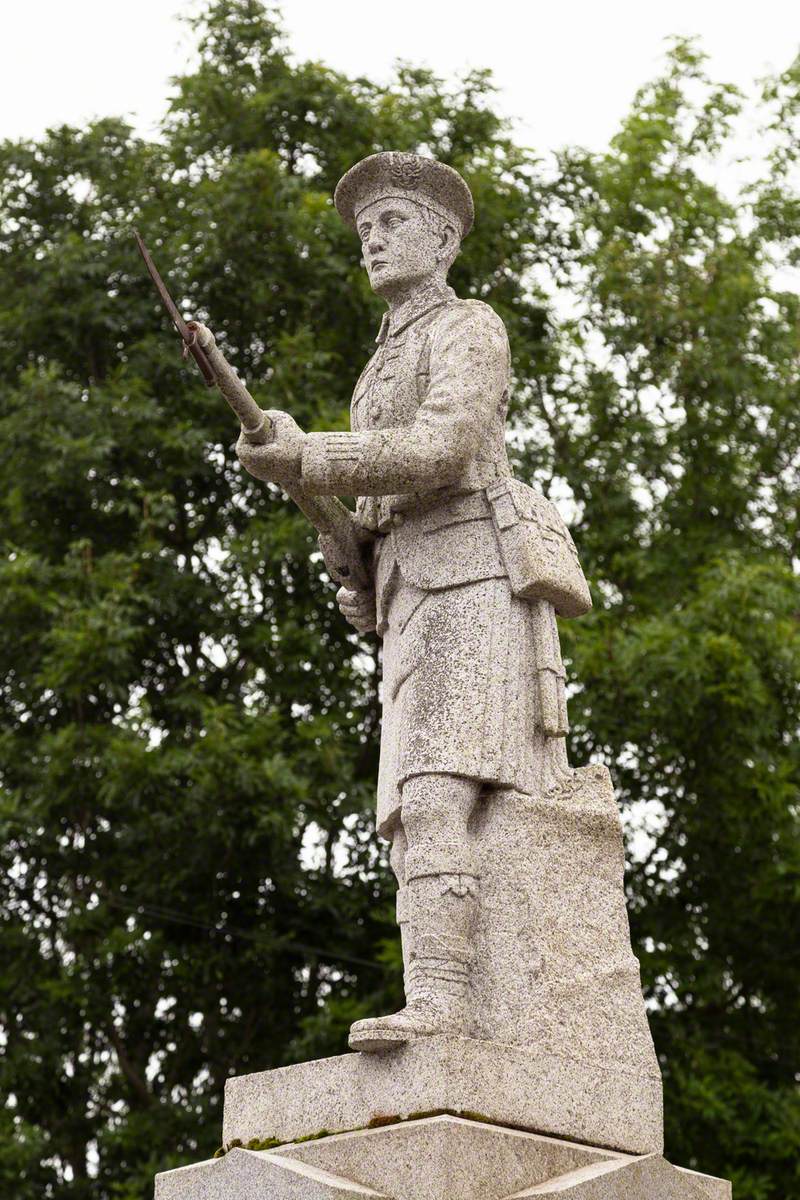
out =
[[[191,52],[199,0],[0,0],[0,138],[124,114],[151,132]],[[541,150],[600,149],[663,40],[697,34],[720,77],[752,85],[800,49],[798,0],[285,0],[295,54],[385,79],[396,58],[445,76],[491,67],[499,104]]]

